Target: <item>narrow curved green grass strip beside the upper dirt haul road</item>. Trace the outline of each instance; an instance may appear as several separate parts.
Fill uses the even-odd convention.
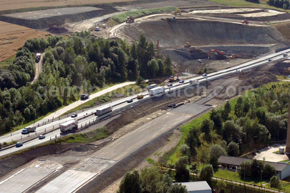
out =
[[[135,18],[142,17],[145,15],[151,15],[156,13],[162,13],[167,12],[171,13],[171,11],[174,11],[177,9],[176,7],[163,7],[163,8],[152,8],[152,9],[141,9],[141,10],[135,10],[135,11],[128,11],[124,13],[119,13],[117,15],[114,15],[112,19],[117,23],[122,23],[126,20],[128,16],[133,16]]]

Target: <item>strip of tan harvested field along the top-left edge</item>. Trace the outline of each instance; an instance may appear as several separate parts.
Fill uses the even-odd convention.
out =
[[[65,5],[82,5],[92,3],[113,3],[130,0],[11,0],[9,2],[0,0],[0,10],[29,8],[29,7],[46,7],[46,6],[65,6]],[[133,1],[133,0],[131,0]]]

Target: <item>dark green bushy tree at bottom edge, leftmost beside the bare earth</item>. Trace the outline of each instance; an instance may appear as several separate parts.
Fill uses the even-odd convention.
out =
[[[139,172],[137,170],[134,170],[132,173],[127,171],[121,180],[118,193],[142,193]]]

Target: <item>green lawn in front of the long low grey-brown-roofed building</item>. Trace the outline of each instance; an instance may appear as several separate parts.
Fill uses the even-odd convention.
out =
[[[223,169],[218,169],[218,171],[214,172],[213,177],[232,180],[232,181],[236,181],[236,182],[242,182],[242,183],[244,182],[244,177],[241,177],[238,174],[238,172],[226,171]],[[268,181],[269,181],[269,179],[262,179],[262,184],[264,184]],[[260,186],[261,185],[261,178],[246,177],[245,183]]]

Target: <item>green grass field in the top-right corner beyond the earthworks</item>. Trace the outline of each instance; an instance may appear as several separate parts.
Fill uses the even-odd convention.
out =
[[[284,10],[284,9],[276,8],[273,6],[269,6],[267,1],[261,1],[261,0],[260,0],[260,3],[251,3],[245,0],[209,0],[209,1],[227,5],[227,6],[233,6],[233,7],[268,8],[268,9],[276,9],[276,10],[290,13],[290,10]]]

